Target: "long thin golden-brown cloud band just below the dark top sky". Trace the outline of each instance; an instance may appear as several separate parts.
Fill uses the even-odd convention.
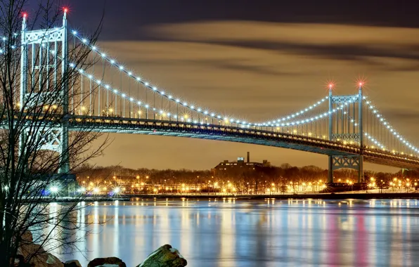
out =
[[[418,44],[418,29],[251,21],[189,22],[147,27],[149,37],[195,41],[275,40],[311,44]]]

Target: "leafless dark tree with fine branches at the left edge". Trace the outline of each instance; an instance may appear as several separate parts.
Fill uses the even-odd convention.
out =
[[[88,48],[49,41],[53,34],[66,34],[63,13],[53,0],[35,8],[32,0],[0,0],[0,266],[13,266],[16,254],[32,242],[41,246],[26,260],[44,250],[77,247],[83,237],[74,233],[84,225],[75,216],[84,196],[75,193],[72,170],[101,154],[107,143],[92,148],[99,133],[88,127],[68,131],[89,119],[75,116],[82,107],[75,103],[69,110],[69,100],[94,97],[98,88],[93,96],[75,89],[79,70],[94,65]],[[46,30],[30,39],[27,32],[34,28]],[[64,190],[75,193],[74,202],[52,210],[49,203],[60,200]],[[28,230],[33,240],[22,238]]]

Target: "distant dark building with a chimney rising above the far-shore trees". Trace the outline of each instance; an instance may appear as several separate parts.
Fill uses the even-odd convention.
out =
[[[247,159],[244,157],[238,157],[236,162],[229,162],[224,160],[220,162],[212,172],[217,176],[237,176],[244,173],[250,173],[252,171],[260,171],[264,168],[271,167],[271,162],[264,160],[261,162],[250,162],[250,152],[247,152]]]

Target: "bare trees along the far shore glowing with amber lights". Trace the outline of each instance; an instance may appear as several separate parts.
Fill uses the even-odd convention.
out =
[[[297,190],[311,186],[321,190],[325,184],[328,170],[316,166],[292,167],[282,164],[281,167],[263,167],[255,171],[215,171],[188,169],[129,169],[120,166],[85,167],[77,170],[77,181],[86,189],[120,187],[123,193],[216,193],[226,189],[228,193],[266,193],[274,190],[284,192],[290,188]],[[366,171],[366,182],[389,183],[394,178],[419,179],[419,171],[402,171],[384,173]],[[356,183],[357,172],[352,169],[335,171],[335,183]],[[413,185],[413,183],[412,183]],[[233,189],[235,189],[233,191]]]

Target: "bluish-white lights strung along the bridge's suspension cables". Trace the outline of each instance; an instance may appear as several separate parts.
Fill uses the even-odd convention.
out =
[[[223,123],[223,124],[236,124],[236,125],[240,125],[240,126],[253,126],[253,127],[265,127],[265,129],[269,129],[270,131],[286,131],[288,133],[301,133],[302,135],[308,135],[308,136],[316,136],[317,138],[323,138],[323,136],[325,136],[325,134],[323,134],[323,131],[317,131],[318,134],[315,134],[313,129],[318,128],[323,129],[323,127],[318,126],[316,127],[314,124],[308,125],[310,123],[313,122],[317,122],[318,120],[321,120],[323,118],[326,118],[328,112],[332,112],[332,113],[339,113],[340,110],[343,109],[343,105],[341,105],[340,107],[336,108],[335,110],[332,111],[328,111],[328,112],[322,112],[318,115],[314,115],[312,117],[307,117],[307,115],[309,115],[311,110],[315,110],[318,107],[321,107],[322,104],[328,103],[328,96],[321,98],[321,100],[318,100],[316,103],[309,105],[307,108],[304,108],[302,110],[300,110],[299,112],[295,112],[292,113],[290,115],[285,115],[282,116],[279,119],[275,119],[269,122],[262,122],[262,123],[253,123],[253,122],[245,122],[240,121],[238,119],[228,119],[228,116],[223,116],[223,115],[217,115],[216,112],[209,112],[208,110],[210,109],[205,109],[205,108],[196,108],[194,105],[188,105],[187,101],[181,101],[180,98],[176,98],[174,96],[172,96],[172,94],[166,93],[164,90],[158,89],[157,86],[153,86],[151,85],[149,82],[146,82],[145,79],[143,79],[142,77],[136,76],[136,74],[134,74],[134,72],[131,72],[127,67],[124,67],[124,64],[122,63],[118,63],[117,60],[115,60],[114,58],[112,58],[111,56],[108,56],[107,53],[101,51],[98,46],[91,44],[91,42],[80,36],[80,34],[76,31],[73,30],[72,31],[72,35],[75,39],[77,39],[78,41],[81,41],[82,44],[84,44],[85,46],[89,47],[91,49],[92,52],[94,52],[98,58],[101,58],[101,60],[103,61],[103,63],[107,63],[108,65],[110,65],[111,67],[114,67],[117,70],[120,70],[120,74],[121,75],[125,75],[126,77],[128,77],[131,80],[134,80],[134,82],[136,82],[137,84],[141,85],[143,88],[146,89],[146,97],[143,98],[143,100],[138,99],[138,96],[141,95],[141,93],[135,93],[133,89],[133,91],[128,94],[128,93],[122,93],[121,91],[119,91],[118,89],[111,89],[111,86],[109,84],[105,84],[105,89],[109,89],[115,96],[111,97],[111,103],[108,102],[107,98],[107,102],[106,105],[108,108],[108,110],[105,110],[105,112],[111,113],[111,112],[117,112],[117,110],[115,110],[115,108],[117,108],[117,103],[118,101],[115,100],[115,97],[120,97],[124,100],[122,100],[122,105],[120,105],[120,110],[122,107],[122,115],[127,116],[126,112],[128,112],[128,115],[132,115],[133,113],[136,113],[137,117],[141,117],[141,115],[143,115],[144,117],[148,118],[149,115],[153,117],[153,119],[155,119],[155,117],[159,117],[160,119],[162,118],[166,118],[166,119],[176,119],[176,120],[180,120],[182,122],[193,122],[193,123],[197,123],[197,124],[209,124],[208,119],[210,119],[211,122],[217,122],[217,123]],[[80,70],[82,73],[84,73],[84,70]],[[93,76],[90,75],[84,75],[84,77],[87,77],[89,79],[93,79]],[[122,81],[122,78],[121,78]],[[99,84],[101,84],[101,79],[96,79],[96,82],[99,82]],[[121,86],[123,84],[123,82],[120,83]],[[134,86],[133,86],[134,87]],[[137,88],[137,90],[139,91],[139,89]],[[150,98],[153,99],[153,103],[149,103],[150,101],[148,100],[147,97],[147,91],[148,93],[150,93]],[[135,94],[137,97],[135,97]],[[133,97],[134,96],[134,97]],[[142,96],[142,95],[141,95]],[[155,105],[155,97],[157,96],[157,102],[161,103],[160,107],[161,108],[156,108]],[[145,99],[145,100],[144,100]],[[183,108],[183,110],[181,109],[181,114],[179,115],[179,112],[177,112],[179,109],[176,108],[176,113],[174,112],[169,112],[167,111],[167,109],[170,109],[170,105],[163,102],[163,100],[168,100],[167,102],[171,102],[173,104],[173,106],[179,107],[179,105],[181,106],[181,108]],[[365,99],[365,98],[364,98]],[[129,104],[129,110],[125,110],[124,109],[124,101],[129,101],[133,104]],[[115,108],[112,108],[112,103],[115,104]],[[370,104],[370,101],[367,101],[367,105]],[[128,104],[127,104],[128,105]],[[132,105],[136,105],[137,106],[137,112],[132,112]],[[344,105],[348,105],[348,103],[344,103]],[[89,104],[89,106],[91,106]],[[372,107],[372,105],[368,105],[368,108]],[[143,108],[143,110],[141,109]],[[349,108],[349,105],[348,105]],[[399,134],[397,134],[397,131],[395,131],[394,129],[392,129],[391,126],[389,126],[388,122],[383,119],[382,115],[380,115],[379,113],[377,113],[378,111],[373,109],[372,110],[376,117],[379,118],[379,122],[382,124],[382,126],[387,126],[387,129],[389,129],[390,131],[392,130],[392,133],[394,133],[394,136],[398,136],[397,138],[399,138],[400,141],[402,142],[406,142],[404,143],[406,145],[406,147],[410,148],[411,152],[418,152],[418,149],[415,148],[413,145],[411,145],[410,143],[407,143],[407,141],[402,138]],[[194,118],[194,113],[198,113],[199,115],[195,115],[195,119]],[[349,116],[349,111],[342,111],[342,114],[345,115],[344,118],[349,119],[349,121],[351,121],[352,123],[354,123],[354,119],[352,119],[352,117]],[[346,116],[348,115],[348,116]],[[298,117],[304,117],[301,120],[293,120],[296,119]],[[343,116],[342,116],[343,117]],[[321,122],[319,122],[321,123]],[[306,130],[304,131],[304,126],[303,124],[306,124]],[[338,124],[337,124],[338,125]],[[354,123],[354,126],[356,126],[356,123]],[[310,129],[310,131],[309,131]],[[325,133],[325,132],[324,132]],[[382,131],[377,131],[377,133],[382,133]],[[366,133],[365,134],[366,137],[368,138],[368,140],[371,142],[370,146],[374,147],[374,145],[377,148],[381,148],[383,150],[388,150],[389,146],[383,145],[382,143],[380,143],[380,138],[384,138],[384,136],[378,137],[378,138],[374,138],[372,135]],[[349,138],[350,139],[350,138]],[[345,143],[354,143],[353,140],[349,140],[349,141],[344,141]],[[396,142],[394,142],[394,145],[396,145]],[[397,150],[399,150],[401,148],[401,146],[399,145],[398,147],[395,146],[394,149],[392,149],[392,151],[396,152]]]

